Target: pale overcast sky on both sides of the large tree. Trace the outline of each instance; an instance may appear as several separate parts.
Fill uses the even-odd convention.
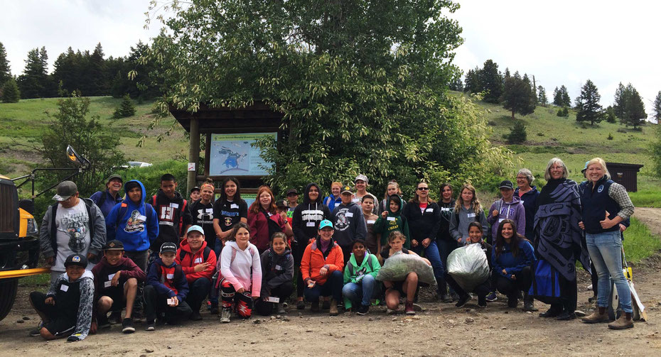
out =
[[[311,0],[313,1],[313,0]],[[159,0],[163,3],[162,0]],[[572,101],[591,79],[609,105],[619,82],[631,82],[647,114],[661,90],[661,2],[651,0],[466,0],[453,14],[465,43],[455,63],[464,72],[485,60],[500,70],[526,72],[538,85],[569,89]],[[129,47],[158,33],[143,28],[148,0],[0,0],[0,42],[11,72],[23,72],[28,50],[45,46],[50,70],[60,53],[94,50],[125,56]]]

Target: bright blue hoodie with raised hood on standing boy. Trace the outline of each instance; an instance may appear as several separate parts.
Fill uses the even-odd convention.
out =
[[[127,193],[121,203],[112,207],[106,217],[107,240],[121,241],[124,243],[124,251],[146,251],[158,236],[158,216],[151,204],[144,203],[145,189],[142,182],[127,181],[124,184],[124,192],[127,192],[129,182],[137,182],[140,185],[142,189],[140,203],[131,201]]]

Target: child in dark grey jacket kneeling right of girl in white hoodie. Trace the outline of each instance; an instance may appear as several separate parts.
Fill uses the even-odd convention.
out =
[[[294,291],[294,258],[286,234],[276,232],[271,236],[271,246],[262,253],[262,274],[262,298],[255,302],[257,312],[268,316],[276,307],[278,314],[285,314],[284,302]]]

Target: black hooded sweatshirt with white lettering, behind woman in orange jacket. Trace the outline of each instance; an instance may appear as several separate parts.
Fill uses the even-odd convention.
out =
[[[319,196],[316,200],[311,201],[309,192],[313,186],[319,191]],[[291,216],[291,229],[294,231],[296,242],[307,246],[308,240],[317,236],[319,222],[324,219],[331,219],[331,210],[322,203],[319,185],[314,182],[310,183],[305,187],[303,203],[296,206],[294,214]]]

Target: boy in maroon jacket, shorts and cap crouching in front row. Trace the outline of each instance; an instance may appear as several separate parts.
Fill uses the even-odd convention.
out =
[[[122,321],[122,332],[132,334],[133,303],[138,292],[138,283],[144,282],[146,275],[133,260],[124,256],[124,243],[109,241],[103,247],[103,258],[92,268],[95,285],[95,314],[92,321],[92,334],[97,327],[110,327],[108,312],[122,313],[124,307],[127,314]]]

